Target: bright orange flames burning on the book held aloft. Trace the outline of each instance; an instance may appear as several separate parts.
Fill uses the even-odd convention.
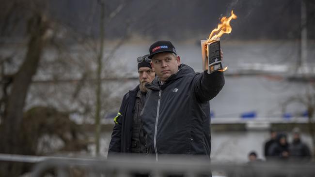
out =
[[[230,17],[226,17],[223,16],[221,18],[221,23],[218,24],[218,28],[213,29],[208,37],[208,40],[205,43],[205,51],[206,54],[208,53],[208,47],[207,44],[210,44],[212,41],[216,41],[219,40],[219,38],[223,35],[223,34],[229,34],[232,31],[232,27],[230,25],[230,22],[232,19],[236,19],[237,16],[233,13],[233,10],[231,11],[231,16]],[[223,68],[222,70],[218,70],[218,71],[226,71],[227,67]]]

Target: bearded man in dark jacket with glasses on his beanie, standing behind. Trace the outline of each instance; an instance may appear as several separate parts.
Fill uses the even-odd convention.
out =
[[[125,94],[111,134],[110,153],[146,153],[145,137],[142,131],[140,113],[142,111],[147,89],[145,84],[151,83],[155,72],[150,65],[148,55],[139,57],[138,73],[140,84]]]

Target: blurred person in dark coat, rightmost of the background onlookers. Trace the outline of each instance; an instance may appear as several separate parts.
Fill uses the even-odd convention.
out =
[[[310,148],[301,141],[300,130],[295,127],[293,130],[293,141],[289,146],[290,160],[307,162],[311,159]]]

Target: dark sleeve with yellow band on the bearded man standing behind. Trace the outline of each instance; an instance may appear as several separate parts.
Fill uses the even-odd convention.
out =
[[[111,133],[110,147],[108,153],[121,152],[121,134],[122,134],[122,118],[125,114],[126,107],[126,95],[123,98],[122,104],[120,106],[117,116],[114,118],[114,127]]]

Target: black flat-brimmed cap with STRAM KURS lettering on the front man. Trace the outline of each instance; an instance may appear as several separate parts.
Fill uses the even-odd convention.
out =
[[[150,51],[150,55],[148,57],[149,59],[152,59],[152,57],[155,54],[161,52],[172,52],[175,55],[177,55],[175,47],[170,41],[157,41],[150,46],[149,51]]]

